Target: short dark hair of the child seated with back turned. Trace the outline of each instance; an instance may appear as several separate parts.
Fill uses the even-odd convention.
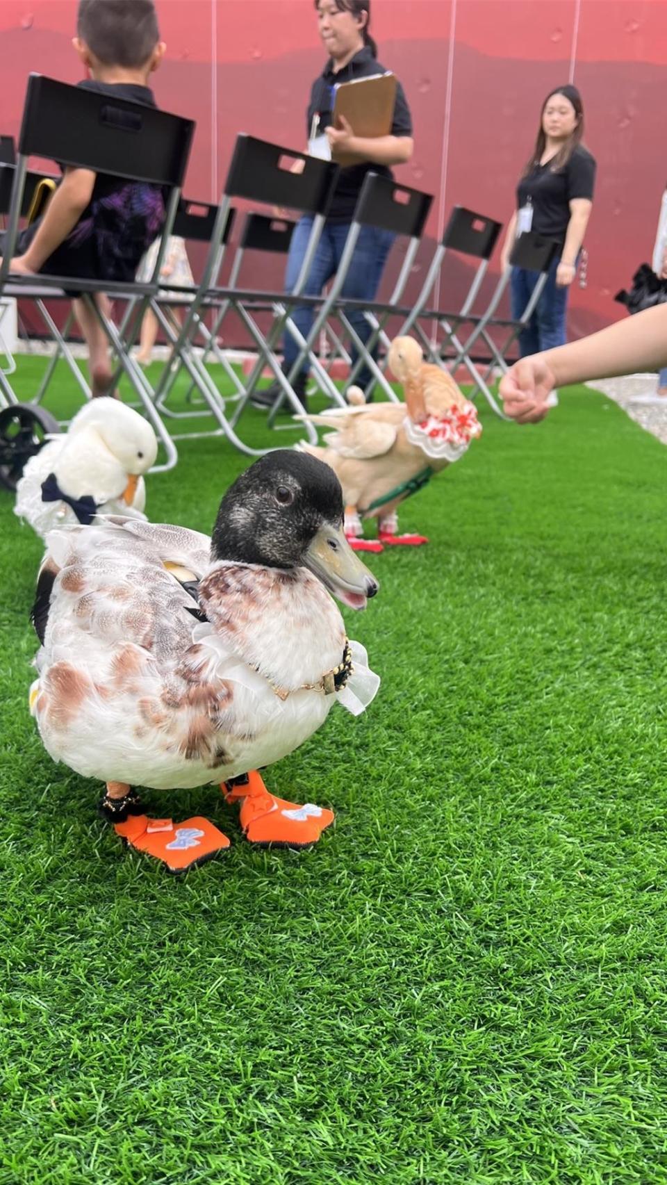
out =
[[[153,0],[79,0],[77,37],[108,66],[142,66],[160,40]]]

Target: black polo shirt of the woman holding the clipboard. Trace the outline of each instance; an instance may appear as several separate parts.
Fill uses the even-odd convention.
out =
[[[359,53],[355,53],[352,60],[342,70],[339,70],[338,73],[334,73],[333,60],[329,58],[323,72],[313,83],[306,120],[306,135],[310,135],[315,115],[320,116],[320,132],[331,126],[334,102],[333,88],[335,85],[342,82],[352,82],[353,78],[368,78],[376,73],[386,73],[386,68],[379,64],[367,45],[363,50],[359,50]],[[396,90],[396,107],[393,109],[391,134],[395,136],[412,135],[410,109],[400,83],[398,83]],[[370,172],[381,173],[383,177],[391,177],[391,169],[386,165],[374,165],[372,161],[364,161],[361,165],[353,165],[351,168],[341,168],[332,199],[329,222],[352,222],[359,191],[361,190],[366,173]]]

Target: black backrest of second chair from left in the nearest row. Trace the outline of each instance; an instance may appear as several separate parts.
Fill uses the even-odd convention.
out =
[[[291,173],[290,166],[297,160],[303,161],[303,172]],[[281,148],[242,133],[236,139],[225,194],[302,213],[326,214],[338,173],[338,165],[331,160]]]

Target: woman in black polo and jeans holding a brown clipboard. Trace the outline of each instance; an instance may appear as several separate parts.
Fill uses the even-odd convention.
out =
[[[327,223],[304,288],[307,296],[319,296],[338,270],[366,173],[373,171],[391,177],[391,166],[404,165],[412,155],[412,122],[400,83],[397,87],[390,135],[361,139],[354,135],[354,129],[345,120],[341,121],[342,127],[333,126],[334,87],[386,72],[377,59],[377,46],[370,34],[371,0],[315,0],[315,9],[320,37],[329,57],[310,91],[307,113],[308,150],[321,155],[322,146],[328,146],[334,153],[338,150],[358,156],[359,164],[340,171]],[[286,273],[288,293],[296,283],[312,226],[313,218],[304,216],[294,231]],[[361,229],[342,297],[374,300],[392,242],[393,235],[390,231],[371,226]],[[293,320],[303,337],[308,337],[313,316],[313,309],[304,307],[296,308],[293,313]],[[360,339],[367,341],[372,331],[363,313],[351,313],[349,320]],[[299,346],[289,332],[286,333],[283,348],[283,370],[289,373],[299,353]],[[371,377],[368,369],[364,367],[358,376],[359,386],[365,389]],[[308,371],[303,370],[294,382],[294,390],[302,403],[306,402],[307,378]],[[280,393],[281,387],[274,383],[263,391],[256,391],[251,397],[252,403],[259,408],[271,408]]]

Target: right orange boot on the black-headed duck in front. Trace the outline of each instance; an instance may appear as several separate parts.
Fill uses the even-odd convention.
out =
[[[307,802],[300,807],[270,794],[257,770],[224,782],[226,802],[240,801],[240,826],[245,838],[258,847],[312,847],[325,827],[334,821],[333,811]]]

